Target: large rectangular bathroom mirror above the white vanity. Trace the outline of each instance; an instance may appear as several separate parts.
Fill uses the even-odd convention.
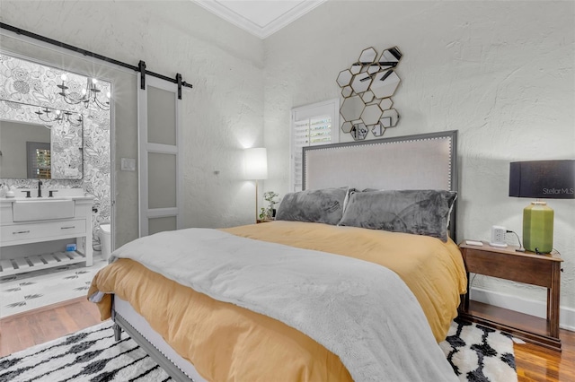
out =
[[[83,117],[2,100],[0,178],[81,179]]]

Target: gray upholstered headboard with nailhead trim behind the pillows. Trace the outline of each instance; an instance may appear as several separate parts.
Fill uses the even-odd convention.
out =
[[[457,187],[457,131],[304,147],[304,189]],[[456,205],[449,236],[456,240]]]

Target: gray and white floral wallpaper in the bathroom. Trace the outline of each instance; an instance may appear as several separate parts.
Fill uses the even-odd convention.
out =
[[[83,103],[66,103],[58,95],[62,74],[67,77],[66,92],[80,98],[88,77],[0,54],[0,120],[39,123],[51,128],[52,152],[58,156],[52,165],[52,179],[42,180],[43,187],[83,188],[94,195],[93,238],[99,244],[100,224],[111,222],[111,111],[92,103],[88,108]],[[99,81],[97,87],[101,90],[99,98],[107,100],[105,94],[111,91],[111,82]],[[45,108],[51,112],[71,112],[73,123],[40,121],[39,117],[46,115],[39,116],[37,112]],[[77,123],[79,116],[82,124]],[[78,147],[82,147],[83,156],[75,154]],[[37,185],[35,179],[0,178],[0,183],[18,188]]]

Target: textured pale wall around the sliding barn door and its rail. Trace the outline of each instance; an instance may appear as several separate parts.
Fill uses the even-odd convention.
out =
[[[253,222],[253,184],[243,177],[243,148],[262,145],[263,46],[260,39],[192,2],[0,1],[9,25],[193,84],[182,97],[183,221],[186,227]],[[136,72],[21,44],[17,53],[113,82],[116,247],[137,238]],[[215,171],[219,171],[216,175]]]

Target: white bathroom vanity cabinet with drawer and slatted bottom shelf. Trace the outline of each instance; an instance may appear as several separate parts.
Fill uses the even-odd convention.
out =
[[[66,205],[68,210],[70,203],[73,203],[72,210],[66,214],[61,213],[59,204],[54,203],[57,201],[66,201],[61,205]],[[49,205],[50,202],[55,204],[56,208]],[[22,217],[22,213],[16,210],[24,204],[27,204],[26,207],[33,206],[39,212],[47,213],[24,213]],[[45,197],[41,200],[40,198],[0,199],[0,277],[83,262],[86,266],[92,266],[92,206],[92,195],[53,199]],[[35,247],[28,246],[40,247],[40,250],[29,250],[25,247],[20,254],[18,253],[18,249],[22,249],[25,245],[48,244],[65,239],[70,239],[69,244],[76,244],[75,251],[66,251],[62,248],[44,252],[40,244]]]

